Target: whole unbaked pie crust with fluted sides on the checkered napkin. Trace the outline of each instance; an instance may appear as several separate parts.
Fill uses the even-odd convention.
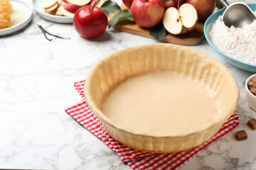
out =
[[[103,58],[85,98],[115,140],[146,152],[180,152],[213,137],[238,105],[228,69],[198,50],[170,44],[127,47]]]

